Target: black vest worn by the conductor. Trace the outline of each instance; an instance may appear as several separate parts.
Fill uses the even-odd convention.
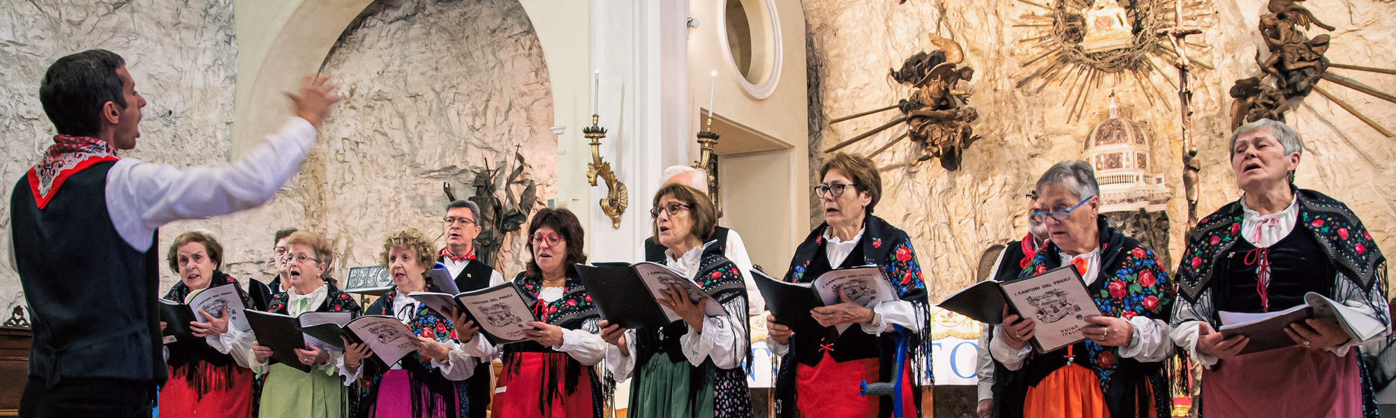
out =
[[[15,269],[34,323],[29,376],[163,383],[156,244],[138,251],[106,208],[103,162],[67,178],[45,209],[28,178],[10,195]],[[158,237],[158,234],[156,234]]]

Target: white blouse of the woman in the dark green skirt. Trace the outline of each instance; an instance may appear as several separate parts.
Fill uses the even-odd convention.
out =
[[[716,242],[711,241],[705,245],[694,247],[678,258],[674,258],[674,254],[666,249],[664,265],[678,270],[685,279],[692,281],[702,268],[704,249]],[[708,302],[715,304],[716,301],[709,300]],[[698,366],[704,359],[712,358],[713,365],[719,369],[740,366],[741,359],[745,358],[747,347],[751,344],[747,339],[747,302],[740,298],[729,301],[723,305],[726,315],[704,316],[702,333],[695,332],[692,326],[684,325],[688,327],[688,332],[678,337],[678,346],[688,364]],[[607,344],[606,366],[614,375],[616,382],[625,382],[635,369],[635,330],[632,329],[625,330],[625,348],[630,350],[630,355],[623,355],[620,348]]]

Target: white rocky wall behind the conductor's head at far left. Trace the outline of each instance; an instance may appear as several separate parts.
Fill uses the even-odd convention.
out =
[[[177,167],[226,160],[237,75],[229,0],[0,0],[0,233],[6,237],[0,251],[6,254],[10,194],[53,144],[39,81],[59,57],[88,49],[126,57],[137,91],[149,102],[138,145],[123,157]],[[166,276],[165,287],[173,283],[173,274]],[[17,304],[22,304],[18,274],[6,262],[0,305],[8,312]]]

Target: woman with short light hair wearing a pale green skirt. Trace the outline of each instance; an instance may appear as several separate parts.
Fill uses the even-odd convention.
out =
[[[311,231],[296,231],[286,237],[288,276],[290,290],[271,298],[268,312],[300,316],[304,312],[355,312],[359,304],[339,291],[327,272],[334,255],[329,241]],[[236,333],[236,330],[230,330]],[[281,362],[271,362],[272,347],[260,346],[253,333],[236,336],[237,350],[255,355],[253,371],[262,376],[261,417],[338,418],[349,411],[350,392],[336,364],[343,353],[325,351],[311,346],[296,348],[296,357],[310,372],[302,372]],[[246,347],[246,348],[244,348]]]

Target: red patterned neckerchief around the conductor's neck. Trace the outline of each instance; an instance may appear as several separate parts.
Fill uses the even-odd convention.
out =
[[[29,169],[29,191],[39,209],[49,205],[59,187],[73,174],[101,162],[114,162],[116,149],[92,137],[56,135],[43,160]]]

